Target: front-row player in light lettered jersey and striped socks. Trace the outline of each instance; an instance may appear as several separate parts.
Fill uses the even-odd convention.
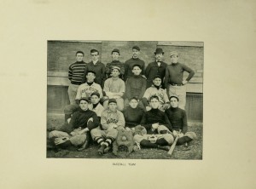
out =
[[[117,110],[115,99],[108,100],[108,109],[102,112],[102,129],[100,127],[92,129],[90,135],[100,148],[98,153],[102,155],[110,150],[113,140],[116,139],[119,129],[125,129],[125,117]]]

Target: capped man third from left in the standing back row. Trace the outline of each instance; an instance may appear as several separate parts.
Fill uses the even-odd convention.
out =
[[[125,65],[124,65],[124,63],[121,63],[119,61],[119,55],[120,55],[119,49],[113,49],[112,50],[112,52],[111,52],[112,62],[110,62],[106,65],[106,76],[107,76],[107,78],[111,77],[111,72],[112,72],[111,68],[113,66],[118,66],[120,68],[119,77],[124,80]]]

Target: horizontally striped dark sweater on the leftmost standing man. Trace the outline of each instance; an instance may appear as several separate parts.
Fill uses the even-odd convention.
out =
[[[79,85],[82,83],[86,64],[84,61],[77,61],[69,66],[68,79],[72,84]]]

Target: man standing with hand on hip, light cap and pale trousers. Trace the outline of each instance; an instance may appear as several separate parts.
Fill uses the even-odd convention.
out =
[[[186,84],[189,80],[195,75],[195,72],[178,62],[178,54],[176,51],[171,52],[172,64],[166,67],[166,77],[165,85],[167,89],[167,95],[170,98],[171,96],[177,96],[179,100],[179,108],[185,109],[186,106]],[[183,80],[183,72],[189,72],[189,77]]]

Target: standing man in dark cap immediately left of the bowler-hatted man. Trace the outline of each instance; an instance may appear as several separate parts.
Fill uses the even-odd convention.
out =
[[[141,53],[141,49],[138,46],[132,47],[132,57],[130,60],[125,61],[125,81],[127,78],[132,77],[132,66],[139,65],[142,67],[142,75],[145,73],[145,62],[139,59],[139,54]]]

